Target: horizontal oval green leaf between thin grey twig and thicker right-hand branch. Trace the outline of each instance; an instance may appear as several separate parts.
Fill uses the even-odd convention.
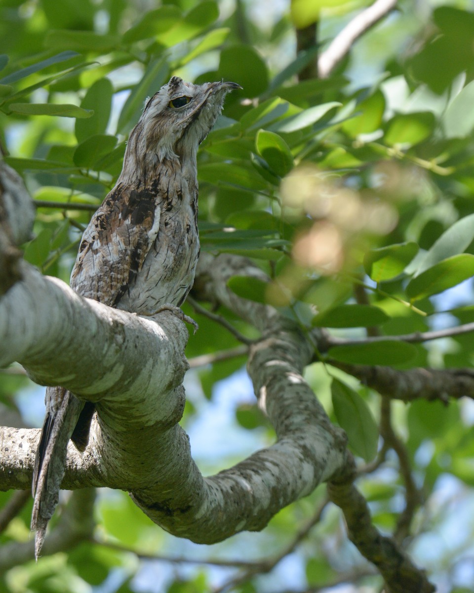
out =
[[[377,340],[329,349],[331,358],[360,365],[400,365],[412,361],[417,354],[416,346],[399,340]]]

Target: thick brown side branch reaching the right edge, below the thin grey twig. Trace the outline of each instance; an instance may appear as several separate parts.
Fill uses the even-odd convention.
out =
[[[474,399],[474,371],[472,369],[430,369],[415,368],[398,371],[390,366],[353,365],[327,359],[326,364],[357,377],[364,385],[390,399],[441,400],[450,398]]]

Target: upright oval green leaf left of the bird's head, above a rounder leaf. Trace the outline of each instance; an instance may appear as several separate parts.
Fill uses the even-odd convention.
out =
[[[82,142],[97,134],[104,134],[112,104],[113,87],[108,78],[100,78],[88,89],[81,107],[94,110],[94,115],[88,119],[77,119],[75,133],[78,142]]]

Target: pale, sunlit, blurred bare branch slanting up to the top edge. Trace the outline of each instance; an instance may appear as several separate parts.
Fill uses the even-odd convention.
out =
[[[360,12],[332,40],[318,60],[319,78],[328,78],[354,42],[396,6],[396,0],[377,0]]]

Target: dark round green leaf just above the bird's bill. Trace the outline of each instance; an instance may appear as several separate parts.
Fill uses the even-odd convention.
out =
[[[267,65],[252,47],[243,44],[222,50],[217,78],[238,82],[246,97],[257,97],[268,87]]]

